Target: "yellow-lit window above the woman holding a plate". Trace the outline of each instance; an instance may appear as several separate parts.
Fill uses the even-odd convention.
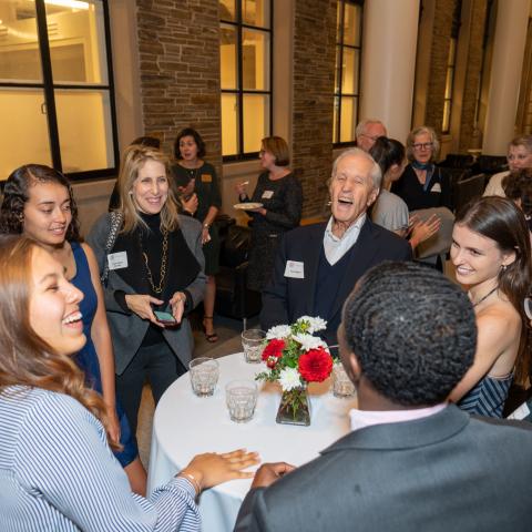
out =
[[[256,156],[272,131],[272,0],[219,0],[222,155]]]

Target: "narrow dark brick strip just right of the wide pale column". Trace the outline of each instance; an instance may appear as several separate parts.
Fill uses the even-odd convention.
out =
[[[443,120],[447,61],[453,9],[454,0],[436,0],[424,125],[430,125],[438,134],[441,133]]]

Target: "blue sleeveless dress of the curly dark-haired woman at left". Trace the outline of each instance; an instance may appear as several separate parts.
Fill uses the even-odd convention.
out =
[[[85,372],[85,379],[89,386],[102,393],[102,377],[100,374],[100,364],[98,361],[96,350],[91,338],[91,327],[96,314],[98,296],[92,285],[91,270],[86,260],[85,252],[76,242],[70,244],[74,254],[75,276],[70,280],[78,289],[83,293],[83,299],[80,303],[80,310],[83,315],[83,332],[86,336],[86,344],[74,356],[78,366]],[[122,467],[125,468],[137,456],[136,442],[131,433],[130,423],[125,413],[116,403],[116,413],[120,421],[120,443],[124,447],[122,451],[114,452]]]

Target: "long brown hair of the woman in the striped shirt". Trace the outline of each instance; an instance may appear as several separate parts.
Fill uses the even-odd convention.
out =
[[[55,352],[30,325],[31,260],[37,247],[28,237],[0,235],[0,393],[16,385],[65,393],[106,428],[103,399],[86,388],[74,361]],[[110,444],[120,448],[117,442]]]

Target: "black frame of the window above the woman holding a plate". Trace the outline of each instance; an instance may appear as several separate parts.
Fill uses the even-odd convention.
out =
[[[223,94],[233,94],[236,95],[237,103],[237,150],[238,153],[234,155],[223,155],[222,162],[237,162],[237,161],[249,161],[258,157],[258,151],[256,152],[244,152],[244,95],[246,94],[256,94],[256,95],[267,95],[269,96],[269,131],[266,132],[265,136],[270,136],[274,131],[274,0],[267,0],[269,2],[269,28],[264,28],[259,25],[250,25],[243,22],[242,18],[242,2],[243,0],[235,0],[235,20],[218,19],[219,27],[222,24],[231,25],[236,29],[236,72],[237,72],[237,82],[236,89],[219,89],[219,95],[222,99]],[[243,40],[242,34],[244,30],[252,31],[262,31],[269,34],[269,91],[264,90],[249,90],[244,89],[243,83]],[[222,64],[219,65],[222,69]],[[222,116],[221,116],[222,121]]]

